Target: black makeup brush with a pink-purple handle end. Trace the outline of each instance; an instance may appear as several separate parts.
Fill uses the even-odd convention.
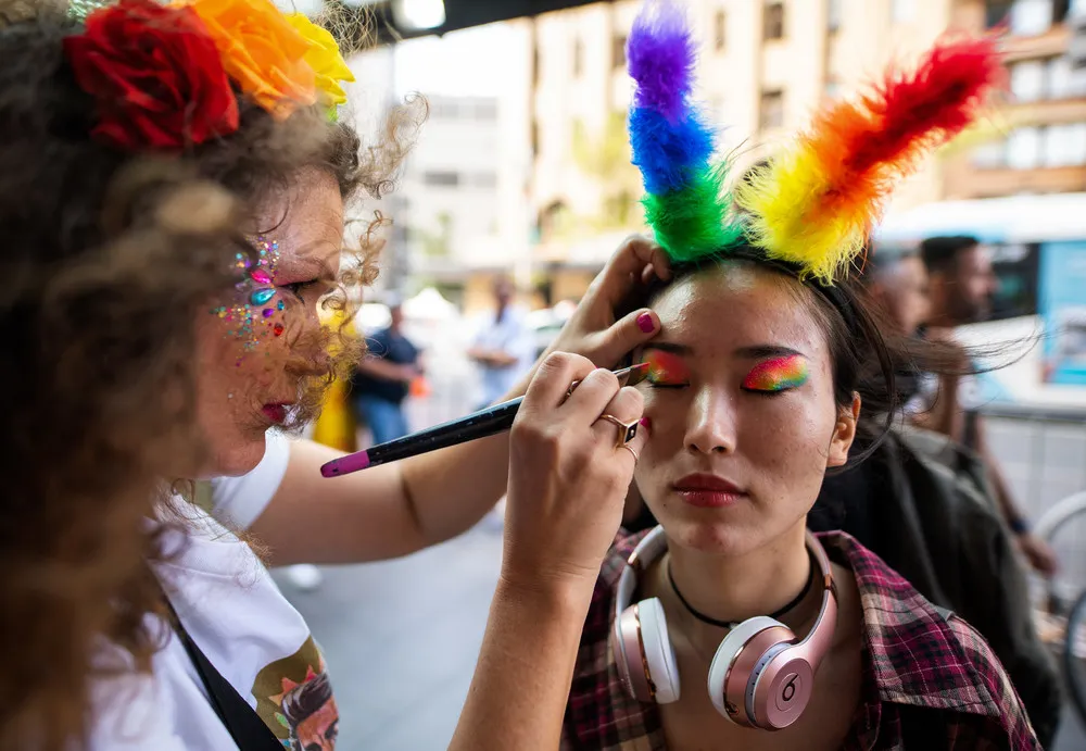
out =
[[[626,378],[627,386],[640,384],[648,375],[648,363],[641,363],[632,367],[623,367],[615,371],[619,380]],[[573,392],[580,381],[573,381],[569,387],[567,396]],[[452,420],[441,425],[418,433],[413,433],[403,438],[396,438],[386,443],[371,446],[365,451],[348,454],[333,459],[320,467],[320,474],[325,477],[340,477],[358,472],[366,467],[397,462],[408,456],[417,456],[429,451],[437,451],[457,443],[466,443],[470,440],[493,436],[496,433],[508,430],[513,427],[513,420],[517,416],[520,402],[523,397],[512,399],[501,404],[494,404],[485,410],[473,412],[465,417]]]

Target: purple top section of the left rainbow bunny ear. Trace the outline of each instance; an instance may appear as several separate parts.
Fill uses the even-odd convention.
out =
[[[648,0],[633,22],[627,47],[637,83],[634,105],[668,120],[681,116],[694,82],[696,46],[683,10],[670,0]]]

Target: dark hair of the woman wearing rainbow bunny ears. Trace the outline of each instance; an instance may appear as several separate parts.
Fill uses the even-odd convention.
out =
[[[681,263],[671,267],[672,277],[651,292],[659,295],[667,286],[716,264],[748,264],[766,273],[791,280],[797,300],[806,305],[825,334],[834,381],[834,402],[838,408],[853,403],[859,395],[863,404],[857,425],[855,450],[847,466],[870,456],[892,427],[901,405],[898,376],[920,372],[950,373],[959,368],[957,353],[940,345],[891,334],[883,315],[868,302],[857,281],[848,279],[833,286],[815,280],[800,281],[799,271],[770,261],[763,251],[749,245],[730,248],[727,255],[706,263]]]

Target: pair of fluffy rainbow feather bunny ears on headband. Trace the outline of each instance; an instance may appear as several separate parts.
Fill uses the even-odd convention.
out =
[[[696,50],[684,13],[648,0],[627,50],[636,83],[633,163],[645,215],[672,262],[747,255],[831,286],[867,245],[898,180],[971,125],[1006,80],[996,39],[938,41],[912,72],[889,71],[815,115],[766,166],[725,190],[714,133],[692,101]]]

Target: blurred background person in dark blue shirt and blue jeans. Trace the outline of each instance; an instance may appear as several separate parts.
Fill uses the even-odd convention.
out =
[[[400,299],[389,302],[387,328],[366,337],[366,358],[351,377],[351,399],[359,422],[369,426],[375,443],[406,436],[404,400],[411,383],[422,374],[419,350],[403,333]]]

